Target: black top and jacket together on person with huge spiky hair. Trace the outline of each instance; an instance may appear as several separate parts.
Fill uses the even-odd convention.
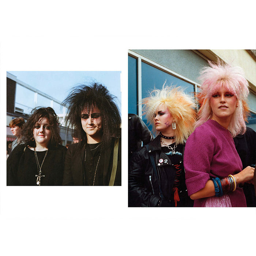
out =
[[[101,146],[97,147],[98,144],[87,144],[84,140],[79,143],[71,144],[68,147],[65,157],[62,185],[93,185],[95,169],[99,154],[101,154],[94,185],[108,186],[113,166],[114,143],[117,141],[119,141],[119,146],[114,186],[121,186],[121,138],[112,138],[109,147],[102,152],[100,152]],[[84,163],[85,149],[86,163]]]

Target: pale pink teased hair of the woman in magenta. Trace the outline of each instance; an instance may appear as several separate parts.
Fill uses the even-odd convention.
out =
[[[202,125],[212,117],[210,106],[210,97],[216,93],[219,88],[225,87],[227,91],[234,94],[238,99],[238,108],[232,115],[228,130],[233,137],[238,134],[244,134],[246,131],[245,118],[248,114],[248,105],[246,103],[249,94],[249,84],[245,79],[244,71],[240,67],[231,67],[221,61],[212,63],[208,61],[210,67],[205,67],[199,79],[202,82],[199,93],[198,120],[195,128]]]

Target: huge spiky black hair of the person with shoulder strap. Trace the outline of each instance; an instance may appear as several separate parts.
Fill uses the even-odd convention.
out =
[[[102,116],[101,150],[109,146],[111,137],[118,133],[121,126],[121,117],[114,102],[115,98],[105,86],[99,83],[82,84],[71,89],[68,97],[63,101],[63,106],[68,109],[66,124],[74,129],[79,141],[87,138],[81,124],[82,111],[86,108],[90,112],[92,108],[97,107]]]

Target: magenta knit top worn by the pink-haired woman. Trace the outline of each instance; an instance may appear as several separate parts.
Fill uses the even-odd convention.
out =
[[[224,178],[242,170],[230,132],[214,120],[200,125],[189,136],[184,151],[185,178],[188,195],[204,188],[212,177]],[[244,192],[229,192],[232,207],[246,207]],[[194,207],[204,207],[206,198],[196,199]]]

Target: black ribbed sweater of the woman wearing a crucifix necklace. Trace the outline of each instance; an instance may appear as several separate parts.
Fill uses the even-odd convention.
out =
[[[24,151],[25,148],[25,151]],[[63,180],[64,160],[67,148],[58,145],[48,150],[42,166],[41,186],[61,185]],[[39,165],[45,157],[46,151],[37,151]],[[35,186],[37,185],[38,168],[34,150],[24,144],[14,148],[7,159],[7,185]]]

